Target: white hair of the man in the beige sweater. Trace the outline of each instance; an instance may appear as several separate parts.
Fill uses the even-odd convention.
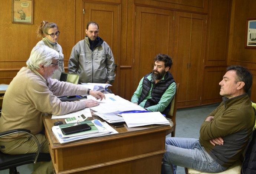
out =
[[[59,58],[59,53],[46,45],[35,46],[26,64],[30,69],[40,69],[40,65],[49,66],[52,60]]]

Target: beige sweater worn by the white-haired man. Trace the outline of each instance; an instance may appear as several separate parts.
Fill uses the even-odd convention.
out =
[[[29,129],[33,134],[40,133],[43,113],[63,115],[85,108],[84,102],[61,102],[57,96],[85,95],[87,91],[82,85],[51,78],[45,80],[38,72],[23,67],[4,94],[0,132]],[[12,141],[18,136],[3,137],[0,141]]]

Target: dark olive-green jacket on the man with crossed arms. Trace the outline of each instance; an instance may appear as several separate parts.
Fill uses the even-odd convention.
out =
[[[211,122],[204,122],[200,128],[200,144],[214,160],[223,167],[229,167],[242,157],[250,133],[255,124],[255,112],[247,94],[223,102],[209,116]],[[222,137],[223,145],[213,146],[209,140]]]

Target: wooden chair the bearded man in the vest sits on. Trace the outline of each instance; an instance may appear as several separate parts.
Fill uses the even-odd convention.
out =
[[[169,120],[171,129],[166,131],[166,135],[171,133],[171,137],[175,136],[175,127],[176,127],[176,111],[177,111],[177,94],[180,84],[176,83],[176,92],[171,100],[171,109],[166,115],[167,120]]]

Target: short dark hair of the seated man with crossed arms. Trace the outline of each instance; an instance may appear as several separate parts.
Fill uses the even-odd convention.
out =
[[[243,66],[240,65],[230,65],[227,67],[227,71],[234,70],[236,71],[236,83],[237,82],[244,82],[244,92],[248,92],[249,89],[252,86],[252,73],[247,69],[244,68]]]

